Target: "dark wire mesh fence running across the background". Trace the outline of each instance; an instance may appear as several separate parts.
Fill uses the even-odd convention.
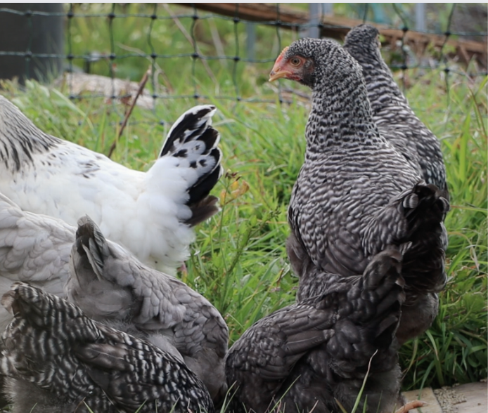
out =
[[[57,11],[31,6],[4,4],[0,8],[0,19],[17,18],[27,27],[27,40],[17,50],[8,46],[15,34],[2,34],[0,59],[20,59],[20,79],[37,75],[52,80],[62,68],[64,77],[56,81],[72,99],[131,99],[148,67],[148,86],[139,105],[149,108],[179,98],[276,102],[276,93],[281,101],[288,100],[290,93],[306,98],[300,90],[265,86],[281,49],[310,34],[342,39],[352,25],[368,20],[380,22],[388,46],[387,63],[402,72],[399,79],[404,87],[409,74],[419,71],[438,71],[447,90],[452,74],[467,79],[487,75],[487,20],[481,13],[486,13],[486,7],[480,5],[430,5],[421,18],[413,4],[383,8],[378,4],[314,8],[65,4]],[[480,23],[473,20],[473,13]],[[51,41],[51,49],[33,47],[41,19],[47,27],[63,22],[64,46],[56,49]],[[41,61],[49,63],[43,67]],[[37,71],[34,74],[32,67]]]

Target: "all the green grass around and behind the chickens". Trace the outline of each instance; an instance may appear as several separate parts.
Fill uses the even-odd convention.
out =
[[[129,43],[131,37],[136,37],[141,44],[134,47],[143,50],[148,27],[136,20],[127,20],[124,27],[114,23],[117,36],[121,35],[116,37],[117,44]],[[212,23],[202,20],[198,24]],[[231,50],[235,46],[233,23],[214,24],[221,43],[228,48],[226,51]],[[80,37],[77,53],[94,50],[96,22],[79,19],[76,25]],[[98,24],[102,28],[105,25],[106,21]],[[191,29],[188,19],[184,25]],[[185,53],[189,44],[176,26],[167,22],[165,29],[162,25],[158,27],[153,28],[160,30],[153,39],[155,48]],[[213,53],[214,40],[204,28],[199,46],[205,53]],[[138,30],[141,33],[135,34]],[[269,27],[258,30],[259,39],[271,33]],[[244,37],[239,33],[242,50]],[[284,33],[283,46],[292,37]],[[74,41],[77,35],[73,34]],[[259,43],[259,58],[278,53],[276,39],[270,44],[265,47]],[[107,47],[110,50],[106,39],[102,45],[103,50]],[[214,194],[221,197],[222,210],[196,229],[197,241],[187,263],[188,273],[181,276],[221,311],[229,325],[232,343],[259,318],[295,300],[297,279],[285,253],[289,232],[286,209],[303,162],[308,103],[293,94],[287,96],[293,100],[290,105],[277,103],[276,90],[266,82],[272,63],[239,63],[233,78],[232,61],[225,64],[210,61],[214,79],[199,64],[192,74],[191,58],[164,59],[160,64],[169,81],[158,79],[174,95],[192,93],[195,84],[199,93],[210,96],[205,101],[219,109],[214,126],[221,133],[226,174]],[[106,62],[97,65],[107,69]],[[146,68],[146,60],[134,67],[131,64],[126,67],[120,61],[116,74],[123,74],[122,77],[129,74],[139,80]],[[442,140],[451,211],[446,220],[449,282],[441,294],[439,316],[432,328],[406,343],[400,351],[405,389],[465,383],[487,376],[487,81],[451,73],[446,89],[442,71],[409,74],[411,87],[406,91],[409,102]],[[234,81],[240,95],[271,98],[276,103],[236,103],[215,98],[224,93],[234,96]],[[105,154],[117,136],[123,105],[108,103],[103,98],[72,101],[66,97],[68,91],[56,91],[34,82],[28,82],[25,90],[12,83],[4,87],[1,93],[46,132]],[[136,107],[113,159],[134,169],[148,169],[169,129],[169,124],[160,125],[158,121],[173,122],[194,104],[193,99],[181,98],[158,100],[154,111]]]

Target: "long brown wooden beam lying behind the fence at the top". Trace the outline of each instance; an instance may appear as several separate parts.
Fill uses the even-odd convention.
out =
[[[299,25],[309,22],[309,13],[290,8],[290,6],[283,6],[282,4],[279,7],[276,4],[264,3],[181,3],[181,5],[195,6],[200,10],[254,22],[269,22],[274,24],[278,21],[278,25],[284,23],[282,27],[285,29],[298,29]],[[362,20],[344,18],[336,15],[323,15],[321,19],[321,24],[323,25],[321,27],[321,36],[342,40],[347,32],[349,32],[350,27],[360,25],[362,22]],[[478,61],[486,66],[488,49],[486,37],[484,41],[454,40],[450,38],[446,41],[445,36],[439,36],[438,34],[426,34],[413,30],[404,32],[399,29],[391,29],[385,25],[368,24],[377,27],[392,46],[395,46],[397,39],[402,38],[406,44],[409,44],[416,51],[424,51],[425,46],[428,44],[433,44],[439,48],[445,43],[454,47],[456,54],[463,61],[469,60],[471,56],[476,55]]]

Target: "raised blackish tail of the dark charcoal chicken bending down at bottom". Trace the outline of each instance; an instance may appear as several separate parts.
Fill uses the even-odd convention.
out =
[[[348,286],[346,292],[344,284]],[[337,300],[335,305],[340,320],[335,325],[335,335],[328,343],[328,350],[336,362],[343,360],[339,362],[339,371],[366,367],[366,360],[375,350],[385,352],[393,364],[396,362],[394,336],[405,300],[404,284],[402,254],[395,249],[386,249],[373,257],[363,275],[351,280],[342,278],[328,289],[321,305],[328,308],[330,300]],[[334,294],[335,291],[340,294]],[[343,296],[344,292],[347,297]],[[385,360],[385,354],[378,359]]]

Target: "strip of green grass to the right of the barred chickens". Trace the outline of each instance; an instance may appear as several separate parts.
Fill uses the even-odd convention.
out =
[[[466,383],[487,376],[486,79],[471,85],[461,80],[452,84],[448,100],[440,100],[441,105],[449,103],[444,119],[436,122],[432,117],[426,122],[442,139],[451,193],[446,220],[449,282],[434,325],[402,348],[408,388]],[[415,95],[409,97],[413,100]]]

